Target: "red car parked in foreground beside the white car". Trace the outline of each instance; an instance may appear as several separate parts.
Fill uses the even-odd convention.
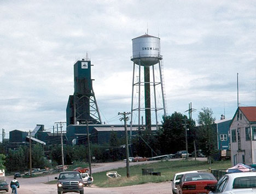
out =
[[[177,184],[177,194],[209,193],[206,186],[214,187],[217,180],[212,173],[198,172],[184,174]]]

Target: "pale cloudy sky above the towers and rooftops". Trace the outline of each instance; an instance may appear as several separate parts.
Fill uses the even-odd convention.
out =
[[[131,39],[160,37],[167,113],[256,106],[255,1],[0,1],[0,130],[66,121],[73,64],[88,53],[102,122],[131,111]],[[0,131],[1,133],[1,131]],[[1,134],[2,135],[2,134]],[[0,136],[1,136],[0,135]]]

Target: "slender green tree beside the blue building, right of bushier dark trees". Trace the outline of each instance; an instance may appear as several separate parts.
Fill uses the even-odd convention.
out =
[[[199,128],[197,130],[197,139],[203,153],[208,157],[208,162],[211,162],[211,155],[216,150],[216,131],[213,128],[215,118],[211,108],[203,107],[202,112],[199,112],[197,122]]]

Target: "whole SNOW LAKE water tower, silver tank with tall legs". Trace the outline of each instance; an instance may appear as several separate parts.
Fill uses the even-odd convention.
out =
[[[151,130],[152,112],[155,113],[156,129],[158,128],[158,111],[163,111],[166,115],[164,80],[162,75],[162,56],[160,54],[160,38],[152,35],[142,35],[132,39],[132,57],[133,61],[133,78],[132,78],[132,105],[131,105],[131,126],[135,112],[138,118],[138,129],[142,129],[143,120],[145,118],[146,130]],[[155,65],[158,64],[158,65]],[[156,68],[155,66],[158,66]],[[157,69],[157,70],[155,70]],[[144,72],[144,76],[142,77]],[[156,76],[158,74],[159,76]],[[160,86],[160,91],[157,87]],[[151,94],[153,90],[153,96]],[[143,94],[144,92],[144,94]],[[160,94],[161,105],[159,105]],[[135,105],[134,102],[137,102]]]

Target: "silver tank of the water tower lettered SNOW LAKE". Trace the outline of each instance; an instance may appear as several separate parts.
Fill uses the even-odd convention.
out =
[[[160,38],[145,34],[132,39],[131,60],[139,65],[154,65],[162,59],[160,55]]]

